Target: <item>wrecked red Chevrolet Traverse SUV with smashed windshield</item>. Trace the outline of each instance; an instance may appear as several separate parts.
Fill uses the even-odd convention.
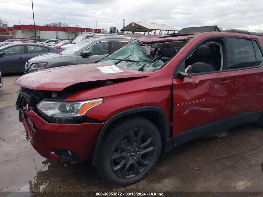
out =
[[[263,37],[149,35],[93,64],[18,78],[16,109],[43,157],[92,157],[110,184],[141,180],[162,152],[219,129],[263,126]]]

